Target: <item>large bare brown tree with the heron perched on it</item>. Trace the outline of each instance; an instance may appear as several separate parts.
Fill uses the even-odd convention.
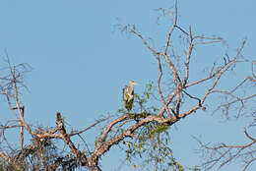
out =
[[[199,68],[192,68],[192,61],[200,63],[200,59],[194,55],[195,49],[216,43],[225,46],[225,42],[221,37],[198,35],[192,31],[192,28],[181,28],[178,25],[177,4],[173,9],[174,12],[159,9],[160,13],[170,22],[164,37],[164,44],[160,44],[159,48],[154,47],[150,39],[145,38],[134,25],[118,25],[121,30],[139,37],[153,53],[159,77],[156,85],[153,83],[147,85],[143,94],[135,94],[133,110],[127,111],[125,108],[121,108],[118,116],[98,119],[92,126],[81,131],[68,133],[64,117],[60,112],[56,114],[54,128],[36,127],[34,129],[32,125],[28,124],[20,93],[22,88],[26,87],[23,79],[30,67],[28,64],[12,65],[7,57],[8,67],[5,70],[8,72],[4,72],[6,75],[0,78],[0,93],[7,100],[10,110],[14,112],[15,120],[1,125],[0,157],[2,158],[2,167],[6,170],[72,170],[77,167],[85,167],[90,171],[98,171],[100,170],[100,157],[111,147],[120,145],[126,151],[127,160],[139,155],[142,158],[145,157],[148,163],[154,163],[155,170],[184,170],[173,157],[168,145],[169,129],[181,119],[195,115],[198,110],[206,110],[207,103],[211,104],[213,94],[225,94],[234,100],[223,104],[221,107],[224,108],[235,105],[236,102],[243,104],[245,100],[255,97],[255,94],[244,98],[234,95],[234,91],[243,83],[247,81],[255,83],[255,75],[252,72],[251,77],[234,88],[231,87],[232,85],[227,85],[230,86],[227,88],[231,90],[219,90],[218,88],[219,85],[222,85],[225,74],[234,71],[236,65],[248,62],[241,55],[246,42],[244,40],[234,56],[224,54],[224,57],[220,57],[217,62],[211,62],[210,66],[202,64],[200,66],[202,69],[208,67],[204,77],[193,76],[191,79],[191,70],[199,70]],[[177,42],[182,42],[182,47]],[[191,89],[197,86],[203,88],[200,88],[200,92],[193,92]],[[157,88],[156,93],[152,92],[154,87]],[[157,97],[157,102],[154,101],[153,96]],[[97,124],[102,125],[102,131],[98,133],[93,150],[79,149],[71,138],[78,136],[84,142],[86,138],[82,134],[90,131]],[[20,150],[12,149],[12,146],[9,145],[10,142],[5,137],[5,133],[14,128],[21,129]],[[24,146],[23,141],[24,129],[32,140],[27,146]],[[252,144],[255,142],[255,139],[246,131],[245,135],[252,141]],[[60,151],[56,147],[57,142],[64,142],[68,148]],[[84,143],[86,144],[86,142]],[[9,147],[4,148],[3,144],[7,144]],[[230,150],[230,147],[236,147],[240,150],[247,146],[248,144],[239,148],[239,146],[228,147],[223,144],[223,147],[219,148]],[[163,166],[162,163],[165,165]]]

